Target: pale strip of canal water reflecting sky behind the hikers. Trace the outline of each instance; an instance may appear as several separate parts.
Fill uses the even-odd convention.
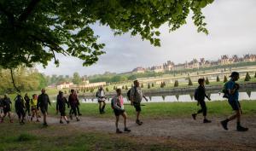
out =
[[[223,98],[223,94],[220,93],[211,93],[208,94],[211,97],[212,101],[224,101],[227,100]],[[195,102],[195,98],[193,94],[188,95],[159,95],[159,96],[147,96],[148,102]],[[52,99],[51,99],[52,100]],[[247,91],[247,92],[240,92],[239,93],[239,100],[256,100],[256,91]],[[79,101],[82,103],[97,103],[96,98],[79,98]],[[110,102],[111,98],[108,98],[107,102]],[[53,100],[52,102],[55,102]],[[124,102],[127,103],[127,98],[124,96]],[[143,102],[146,102],[143,99]]]

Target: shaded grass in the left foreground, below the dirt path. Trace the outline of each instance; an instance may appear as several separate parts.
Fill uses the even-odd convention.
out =
[[[0,151],[80,151],[80,150],[174,150],[171,145],[144,142],[125,135],[89,132],[67,125],[19,125],[3,123],[0,131]]]

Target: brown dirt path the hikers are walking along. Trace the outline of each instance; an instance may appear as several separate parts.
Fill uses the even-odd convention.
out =
[[[64,129],[75,128],[81,131],[100,131],[114,134],[114,119],[96,119],[81,117],[79,122],[73,120]],[[160,143],[172,146],[178,150],[256,150],[256,118],[245,117],[242,125],[249,128],[247,132],[236,131],[236,121],[229,123],[229,131],[219,125],[223,118],[214,118],[212,123],[203,124],[201,119],[147,119],[143,125],[136,125],[133,120],[128,120],[131,129],[129,134],[119,136],[130,137],[142,144]],[[59,119],[49,118],[49,124],[59,125]],[[123,127],[122,118],[119,127]]]

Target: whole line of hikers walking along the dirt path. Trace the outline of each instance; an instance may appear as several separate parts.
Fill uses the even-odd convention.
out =
[[[239,103],[238,96],[239,96],[239,84],[236,84],[236,81],[239,79],[239,73],[233,72],[230,75],[230,80],[224,84],[224,97],[228,99],[228,102],[230,104],[230,107],[236,113],[228,119],[224,119],[220,122],[220,124],[223,126],[224,130],[228,130],[228,123],[236,119],[237,125],[236,130],[237,131],[248,131],[248,128],[241,126],[241,104]],[[142,111],[142,100],[143,98],[148,101],[147,97],[143,95],[143,91],[140,87],[140,84],[137,80],[134,82],[134,86],[131,87],[130,90],[127,92],[128,100],[131,101],[131,105],[135,108],[137,113],[136,123],[137,125],[143,125],[143,122],[140,120],[140,113]],[[207,119],[207,105],[205,102],[205,98],[210,101],[210,97],[207,96],[206,88],[205,88],[205,79],[199,78],[198,79],[199,86],[195,90],[195,100],[198,102],[197,105],[201,106],[201,109],[197,111],[197,113],[192,114],[192,118],[196,119],[197,114],[203,113],[204,119],[203,123],[211,123],[212,121]],[[15,97],[15,111],[18,115],[20,125],[24,124],[26,113],[28,116],[30,116],[31,121],[33,118],[36,118],[36,121],[39,122],[38,118],[40,118],[40,112],[44,116],[44,126],[47,126],[47,113],[48,113],[48,105],[51,105],[49,102],[49,96],[45,93],[45,90],[41,90],[41,94],[37,96],[36,94],[32,95],[32,99],[29,98],[29,96],[26,94],[24,98],[22,98],[21,95],[18,95]],[[106,107],[106,94],[101,86],[97,92],[96,97],[99,103],[99,113],[105,113],[105,107]],[[69,111],[69,118],[73,119],[73,115],[75,116],[76,120],[79,121],[79,116],[82,115],[79,111],[79,99],[76,94],[75,90],[70,91],[70,95],[68,96],[68,99],[64,96],[62,91],[59,91],[59,94],[56,99],[56,112],[61,114],[60,123],[63,124],[62,119],[64,119],[67,124],[69,124],[69,120],[66,116],[66,107],[70,107]],[[3,99],[0,98],[0,122],[3,122],[3,119],[8,116],[9,121],[13,123],[13,117],[11,116],[11,104],[9,97],[7,95],[4,95]],[[124,131],[130,132],[131,130],[128,129],[126,125],[127,120],[127,113],[125,113],[125,104],[124,104],[124,97],[122,96],[122,90],[116,89],[116,95],[114,95],[111,99],[111,107],[113,109],[113,113],[115,115],[115,128],[116,133],[122,133],[122,131],[119,130],[119,116],[121,115],[124,119]],[[3,113],[2,113],[3,112]],[[31,114],[32,112],[32,114]]]

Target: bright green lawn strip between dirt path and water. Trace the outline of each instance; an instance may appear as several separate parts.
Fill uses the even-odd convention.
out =
[[[143,103],[142,116],[144,119],[158,118],[175,118],[175,117],[190,117],[191,113],[197,111],[200,106],[196,106],[197,102],[149,102]],[[243,113],[251,115],[256,113],[256,101],[241,101]],[[209,116],[230,115],[232,109],[227,101],[207,102]],[[67,110],[68,111],[68,110]],[[98,104],[83,103],[80,105],[80,111],[83,116],[96,118],[113,118],[113,110],[110,104],[107,104],[106,113],[99,114]],[[135,118],[135,109],[131,105],[125,105],[125,111],[129,117]],[[55,104],[49,107],[49,113],[55,115]]]

